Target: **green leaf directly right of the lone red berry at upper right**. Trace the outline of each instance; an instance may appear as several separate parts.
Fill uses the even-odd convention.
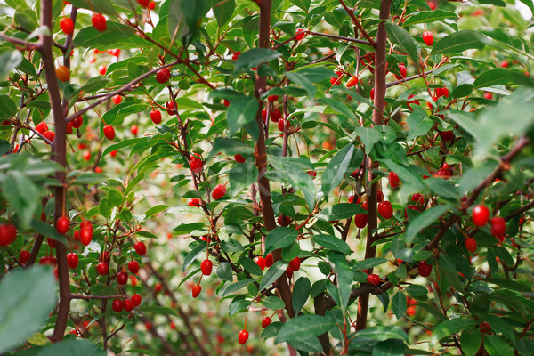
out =
[[[471,49],[481,50],[488,42],[488,37],[479,31],[465,29],[441,38],[433,45],[430,54],[456,54]]]

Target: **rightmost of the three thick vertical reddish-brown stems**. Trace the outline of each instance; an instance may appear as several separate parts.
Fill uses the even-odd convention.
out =
[[[390,9],[392,6],[392,0],[382,0],[380,3],[380,19],[387,20],[390,17]],[[378,24],[378,30],[376,31],[376,54],[375,54],[375,106],[373,110],[373,124],[382,125],[384,117],[384,99],[385,99],[385,55],[386,55],[386,39],[387,34],[385,32],[384,21]],[[373,167],[375,164],[370,158],[368,158],[368,184],[373,182],[376,178],[373,174]],[[372,246],[375,242],[376,236],[373,235],[373,231],[376,230],[377,213],[376,213],[376,193],[378,191],[378,182],[368,185],[367,190],[367,203],[368,203],[368,227],[367,227],[367,242],[365,248],[365,258],[372,258],[376,255],[376,247]],[[369,273],[372,269],[369,270]],[[363,330],[367,327],[367,315],[368,315],[368,303],[369,294],[366,293],[360,296],[358,301],[358,318],[356,319],[356,330]]]

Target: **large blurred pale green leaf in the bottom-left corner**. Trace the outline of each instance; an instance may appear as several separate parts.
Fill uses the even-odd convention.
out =
[[[34,266],[7,273],[0,300],[0,352],[7,352],[40,330],[56,306],[52,269]]]

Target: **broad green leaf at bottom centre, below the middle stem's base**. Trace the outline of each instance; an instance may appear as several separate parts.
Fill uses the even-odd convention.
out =
[[[309,339],[311,336],[318,336],[336,327],[336,322],[320,315],[299,315],[291,320],[279,330],[276,336],[276,344],[287,341],[300,341]]]

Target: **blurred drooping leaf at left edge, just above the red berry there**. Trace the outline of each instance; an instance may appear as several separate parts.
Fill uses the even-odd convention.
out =
[[[2,194],[14,207],[22,227],[27,227],[40,204],[39,189],[36,184],[20,172],[11,171],[2,182]]]

